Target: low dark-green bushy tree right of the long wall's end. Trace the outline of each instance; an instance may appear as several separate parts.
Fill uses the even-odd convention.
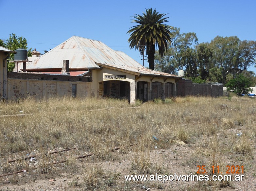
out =
[[[227,91],[233,91],[238,95],[247,94],[252,92],[250,88],[252,85],[251,80],[243,74],[239,74],[236,78],[231,79],[227,84]]]

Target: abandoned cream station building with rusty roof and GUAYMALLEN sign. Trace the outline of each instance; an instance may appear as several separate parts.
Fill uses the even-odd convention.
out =
[[[176,82],[182,78],[147,69],[121,51],[78,36],[32,62],[14,62],[14,70],[21,72],[9,72],[7,78],[0,78],[7,84],[2,97],[8,99],[25,94],[38,98],[68,95],[126,98],[133,103],[136,99],[176,96]]]

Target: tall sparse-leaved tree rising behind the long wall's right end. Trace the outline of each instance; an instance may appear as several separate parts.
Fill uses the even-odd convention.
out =
[[[236,36],[216,36],[210,43],[210,46],[213,49],[213,57],[211,61],[215,67],[222,68],[222,82],[224,85],[226,84],[226,75],[238,68],[237,52],[239,41],[239,38]]]

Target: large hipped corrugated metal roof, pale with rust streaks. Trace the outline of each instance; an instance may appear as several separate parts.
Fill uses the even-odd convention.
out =
[[[99,68],[95,62],[143,67],[125,53],[115,51],[100,41],[72,36],[35,61],[28,63],[26,68],[62,68],[63,60],[69,60],[70,68]]]

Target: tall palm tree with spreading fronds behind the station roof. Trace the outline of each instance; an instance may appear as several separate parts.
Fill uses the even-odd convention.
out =
[[[129,47],[140,51],[140,54],[144,54],[141,47],[146,46],[147,61],[149,68],[154,70],[155,61],[155,46],[159,49],[159,55],[162,57],[168,48],[168,45],[172,43],[174,37],[170,30],[173,28],[169,25],[163,24],[168,22],[163,18],[167,14],[159,14],[156,9],[152,11],[152,8],[146,9],[146,13],[143,15],[133,16],[131,22],[138,23],[130,28],[127,33],[131,33],[128,39],[130,43]]]

